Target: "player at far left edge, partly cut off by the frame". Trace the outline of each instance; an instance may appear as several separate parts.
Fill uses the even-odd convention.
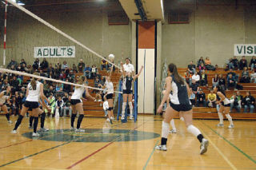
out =
[[[0,107],[3,111],[3,113],[6,114],[6,119],[8,121],[9,124],[13,123],[12,121],[10,121],[10,113],[8,113],[8,109],[7,109],[7,106],[6,106],[6,101],[10,99],[10,86],[6,86],[5,88],[6,90],[2,91],[0,93]]]

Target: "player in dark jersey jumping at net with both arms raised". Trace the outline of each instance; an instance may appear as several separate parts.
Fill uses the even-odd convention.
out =
[[[133,103],[132,103],[132,99],[133,99],[133,87],[132,87],[132,82],[138,78],[138,76],[142,73],[142,68],[139,70],[138,74],[135,75],[134,77],[132,76],[132,72],[128,71],[126,72],[124,69],[124,66],[121,62],[122,65],[122,117],[121,119],[124,120],[125,119],[125,112],[126,112],[126,103],[127,103],[127,97],[128,97],[128,104],[130,107],[130,120],[134,118],[133,116]]]

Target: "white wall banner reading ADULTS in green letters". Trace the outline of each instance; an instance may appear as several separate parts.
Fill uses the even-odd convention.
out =
[[[34,57],[75,57],[75,46],[34,47]]]

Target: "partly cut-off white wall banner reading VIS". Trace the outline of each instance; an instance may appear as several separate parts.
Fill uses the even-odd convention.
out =
[[[256,44],[235,44],[234,56],[256,56]]]

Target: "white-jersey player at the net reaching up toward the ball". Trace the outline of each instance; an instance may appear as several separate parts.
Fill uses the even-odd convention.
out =
[[[114,94],[114,85],[113,82],[111,81],[111,74],[113,72],[113,66],[111,66],[110,73],[106,77],[106,82],[104,85],[104,88],[106,88],[106,100],[109,105],[109,109],[107,110],[108,118],[107,121],[112,124],[112,120],[114,120],[114,113],[113,113],[113,94]]]

